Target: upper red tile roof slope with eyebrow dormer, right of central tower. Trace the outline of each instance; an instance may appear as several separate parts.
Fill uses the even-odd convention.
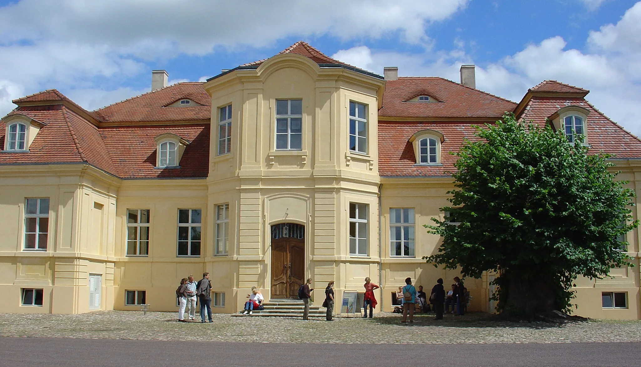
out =
[[[427,94],[439,102],[406,102]],[[442,77],[399,77],[385,81],[380,117],[500,118],[515,102],[460,85]]]

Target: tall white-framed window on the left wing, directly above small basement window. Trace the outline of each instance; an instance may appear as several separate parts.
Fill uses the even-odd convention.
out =
[[[26,199],[24,206],[24,249],[46,250],[49,233],[49,198]]]

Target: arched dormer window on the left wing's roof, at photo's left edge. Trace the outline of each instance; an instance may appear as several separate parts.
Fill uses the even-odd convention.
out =
[[[4,118],[3,153],[28,153],[38,131],[45,124],[26,115],[15,113]]]

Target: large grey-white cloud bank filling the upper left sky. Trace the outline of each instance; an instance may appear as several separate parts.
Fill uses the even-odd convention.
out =
[[[429,44],[431,22],[469,0],[22,0],[0,8],[0,115],[11,99],[62,88],[87,101],[111,101],[118,81],[150,60],[203,55],[217,47],[265,47],[285,37],[343,40],[399,35]],[[313,16],[310,16],[313,14]],[[10,57],[8,57],[10,56]],[[112,86],[101,85],[108,80]],[[101,102],[87,102],[96,106]]]

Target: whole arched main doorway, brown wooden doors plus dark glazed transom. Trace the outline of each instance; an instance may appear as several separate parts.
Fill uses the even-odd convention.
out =
[[[305,277],[305,226],[272,225],[271,298],[297,298]]]

